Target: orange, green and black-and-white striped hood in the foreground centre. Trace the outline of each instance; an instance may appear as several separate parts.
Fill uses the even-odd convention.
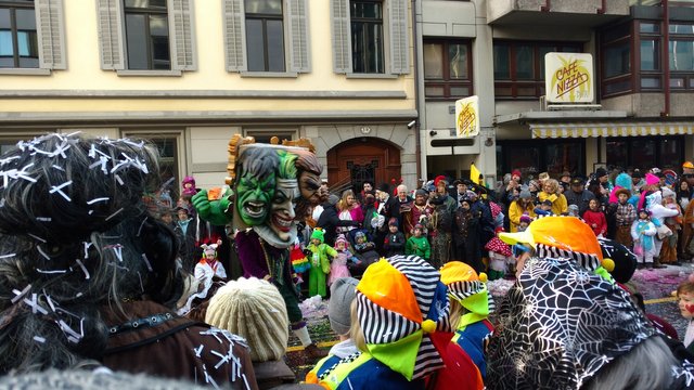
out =
[[[428,335],[451,332],[439,278],[424,259],[394,256],[369,265],[357,285],[357,316],[369,353],[408,380],[444,367]]]

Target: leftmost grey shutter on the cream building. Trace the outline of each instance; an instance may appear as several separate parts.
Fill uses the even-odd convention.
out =
[[[36,0],[39,67],[66,69],[63,0]]]

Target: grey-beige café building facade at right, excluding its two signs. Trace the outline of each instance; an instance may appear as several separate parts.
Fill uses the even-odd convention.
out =
[[[694,2],[420,0],[414,28],[424,171],[493,185],[512,169],[587,174],[693,157]],[[548,104],[544,55],[592,55],[589,104]],[[457,139],[454,101],[479,96],[480,134]]]

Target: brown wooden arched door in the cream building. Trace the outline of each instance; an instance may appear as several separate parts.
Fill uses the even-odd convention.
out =
[[[331,188],[359,193],[364,181],[375,185],[395,179],[400,182],[400,150],[375,138],[345,141],[327,151],[327,181]]]

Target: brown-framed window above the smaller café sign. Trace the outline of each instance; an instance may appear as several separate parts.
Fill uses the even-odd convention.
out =
[[[470,41],[424,41],[426,98],[459,99],[473,94]]]

